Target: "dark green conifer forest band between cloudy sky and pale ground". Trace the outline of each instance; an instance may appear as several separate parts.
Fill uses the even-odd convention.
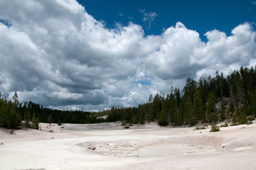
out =
[[[246,117],[256,116],[256,68],[240,67],[225,78],[216,71],[215,76],[203,74],[198,80],[188,78],[183,90],[171,87],[170,94],[149,95],[146,103],[138,107],[112,107],[101,112],[83,110],[57,110],[34,102],[19,102],[15,92],[13,101],[1,98],[0,124],[4,127],[29,126],[38,129],[38,123],[102,123],[158,121],[161,126],[195,125],[198,122],[217,122],[236,117],[244,123]],[[216,102],[221,105],[216,107]],[[105,119],[101,116],[107,116]]]

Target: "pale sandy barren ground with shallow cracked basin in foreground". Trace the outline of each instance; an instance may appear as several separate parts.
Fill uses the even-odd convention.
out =
[[[209,132],[210,126],[193,131],[156,122],[129,129],[120,124],[42,123],[42,131],[15,134],[1,128],[0,170],[256,169],[256,123],[219,132]]]

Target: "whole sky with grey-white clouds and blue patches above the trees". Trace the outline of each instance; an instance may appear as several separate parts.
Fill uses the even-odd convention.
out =
[[[0,91],[101,111],[256,64],[256,1],[0,0]]]

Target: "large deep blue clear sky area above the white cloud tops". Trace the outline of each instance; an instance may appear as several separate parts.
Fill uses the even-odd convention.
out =
[[[115,22],[127,25],[132,21],[143,26],[145,35],[159,35],[163,29],[182,22],[188,29],[196,30],[203,41],[209,30],[224,31],[227,35],[238,24],[256,21],[256,3],[252,0],[78,0],[86,11],[106,27]],[[140,10],[145,10],[140,12]],[[144,22],[143,14],[157,14],[154,20]]]

